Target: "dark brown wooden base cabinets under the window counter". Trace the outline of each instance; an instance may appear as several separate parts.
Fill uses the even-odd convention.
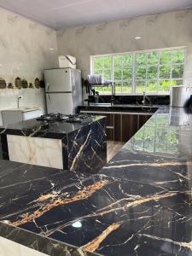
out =
[[[106,113],[85,110],[80,112],[106,116],[108,140],[125,143],[130,140],[131,137],[133,137],[133,135],[147,122],[152,115],[152,113]]]

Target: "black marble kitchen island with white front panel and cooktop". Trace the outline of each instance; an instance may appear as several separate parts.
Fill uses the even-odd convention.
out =
[[[106,163],[106,119],[85,124],[30,119],[0,127],[3,159],[76,172],[97,172]]]

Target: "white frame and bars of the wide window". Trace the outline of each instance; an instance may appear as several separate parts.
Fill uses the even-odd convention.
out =
[[[121,93],[116,93],[117,96],[126,96],[126,95],[135,95],[135,96],[139,96],[139,95],[143,95],[143,93],[138,93],[136,92],[137,90],[137,83],[136,83],[136,72],[137,72],[137,54],[139,53],[150,53],[150,52],[159,52],[159,55],[160,55],[160,52],[162,51],[167,51],[167,50],[176,50],[176,49],[183,49],[184,50],[184,63],[183,63],[183,80],[184,80],[184,77],[185,77],[185,64],[186,64],[186,49],[187,47],[186,46],[180,46],[180,47],[172,47],[172,48],[161,48],[161,49],[146,49],[146,50],[139,50],[139,51],[130,51],[130,52],[123,52],[123,53],[114,53],[114,54],[105,54],[105,55],[90,55],[90,73],[93,73],[94,71],[94,58],[95,57],[105,57],[105,56],[110,56],[111,57],[111,61],[112,61],[112,65],[111,65],[111,75],[112,75],[112,81],[114,81],[114,78],[113,78],[113,68],[114,68],[114,61],[113,61],[113,56],[115,55],[132,55],[133,56],[133,65],[132,65],[132,90],[131,90],[131,93],[124,93],[122,92],[122,84],[121,84]],[[151,65],[153,66],[153,65]],[[148,67],[148,64],[145,66],[146,67],[146,73],[147,73],[147,67]],[[102,69],[103,70],[103,69]],[[158,79],[157,82],[158,82],[158,88],[159,88],[159,84],[160,84],[160,76],[159,76],[159,71],[160,71],[160,57],[158,58]],[[171,69],[171,72],[172,72],[172,69]],[[172,74],[171,74],[172,76]],[[171,77],[170,76],[170,77]],[[154,79],[147,79],[147,75],[146,75],[146,79],[143,79],[143,81],[145,81],[145,84],[147,84],[147,81],[150,81],[150,80],[154,80]],[[170,80],[170,79],[163,79],[163,80]],[[174,79],[174,80],[181,80],[181,79]],[[121,73],[121,81],[122,81],[122,73]],[[108,95],[108,94],[103,94],[103,95]],[[148,92],[148,95],[170,95],[170,91],[165,91],[165,92],[159,92],[159,91],[156,91],[156,92]]]

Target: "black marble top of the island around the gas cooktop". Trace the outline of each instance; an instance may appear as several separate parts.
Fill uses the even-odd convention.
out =
[[[92,118],[92,121],[86,124],[67,123],[63,122],[47,122],[38,121],[36,119],[29,119],[23,122],[0,126],[0,134],[11,134],[19,136],[31,137],[48,137],[48,138],[62,138],[63,136],[80,130],[86,125],[102,119],[101,116]]]

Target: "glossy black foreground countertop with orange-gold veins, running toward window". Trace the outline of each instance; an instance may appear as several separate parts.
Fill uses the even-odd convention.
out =
[[[160,107],[91,176],[0,165],[0,236],[49,255],[192,255],[190,111]]]

